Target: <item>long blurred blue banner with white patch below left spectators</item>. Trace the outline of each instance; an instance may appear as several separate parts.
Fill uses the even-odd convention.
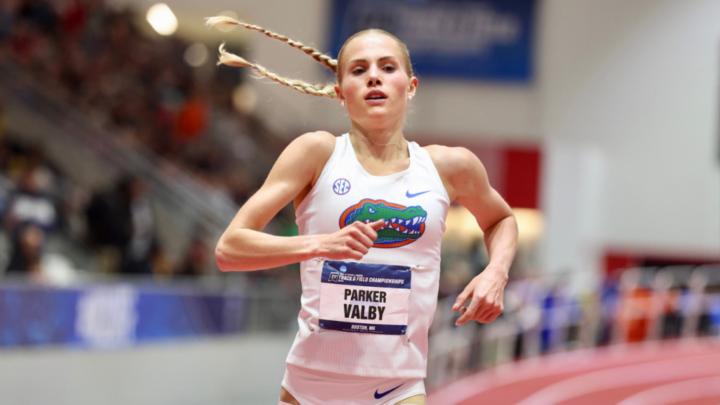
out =
[[[0,286],[0,348],[66,344],[123,347],[238,333],[246,301],[235,294],[129,284],[86,288]]]

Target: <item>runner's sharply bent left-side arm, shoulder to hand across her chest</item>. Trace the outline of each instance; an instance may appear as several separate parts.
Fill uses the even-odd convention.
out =
[[[329,235],[274,236],[267,223],[296,197],[305,197],[335,148],[326,132],[292,141],[275,162],[263,186],[238,211],[215,248],[222,271],[263,270],[312,259],[361,259],[377,238],[382,221],[354,223]]]

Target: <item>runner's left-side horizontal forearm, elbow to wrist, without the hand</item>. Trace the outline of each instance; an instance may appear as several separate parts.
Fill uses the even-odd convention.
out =
[[[217,242],[215,259],[224,272],[271,269],[318,257],[315,236],[274,236],[251,229],[226,232]]]

